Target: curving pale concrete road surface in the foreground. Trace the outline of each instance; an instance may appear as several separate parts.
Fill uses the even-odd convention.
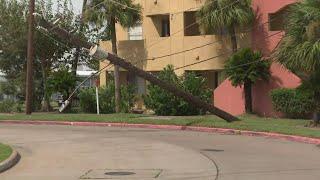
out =
[[[319,180],[320,147],[261,137],[0,124],[22,156],[1,180]]]

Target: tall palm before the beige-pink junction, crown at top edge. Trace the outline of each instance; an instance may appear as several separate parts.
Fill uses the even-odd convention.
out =
[[[255,17],[251,0],[206,0],[197,15],[200,26],[207,32],[227,28],[233,52],[238,49],[236,28],[251,24]]]

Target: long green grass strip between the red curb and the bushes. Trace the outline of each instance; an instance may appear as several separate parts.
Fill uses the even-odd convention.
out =
[[[240,117],[242,121],[227,123],[216,116],[191,116],[191,117],[157,117],[136,114],[43,114],[34,113],[31,116],[24,114],[0,114],[1,120],[52,120],[52,121],[93,121],[93,122],[120,122],[134,124],[162,124],[182,126],[203,126],[232,128],[239,130],[276,132],[282,134],[299,135],[320,138],[319,128],[304,127],[309,121],[293,119],[260,118],[253,115]]]

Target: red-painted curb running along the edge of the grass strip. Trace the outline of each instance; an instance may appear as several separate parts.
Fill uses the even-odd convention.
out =
[[[19,121],[19,120],[4,120],[0,123],[5,124],[29,124],[29,125],[65,125],[65,126],[100,126],[100,127],[128,127],[128,128],[149,128],[149,129],[164,129],[164,130],[184,130],[184,131],[197,131],[209,132],[228,135],[246,135],[257,137],[269,137],[273,139],[283,139],[294,142],[308,143],[320,145],[319,138],[309,138],[294,135],[285,135],[279,133],[269,132],[255,132],[236,129],[225,128],[208,128],[208,127],[195,127],[195,126],[176,126],[176,125],[152,125],[152,124],[128,124],[128,123],[103,123],[103,122],[65,122],[65,121]]]

